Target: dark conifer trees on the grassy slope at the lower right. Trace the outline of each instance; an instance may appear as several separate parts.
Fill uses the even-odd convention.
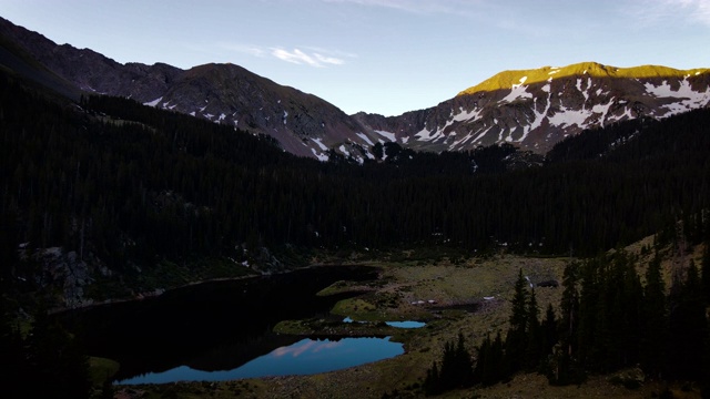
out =
[[[693,263],[677,267],[682,277],[667,290],[658,254],[643,284],[637,259],[625,252],[571,263],[565,269],[559,318],[550,305],[542,320],[535,290],[520,272],[505,339],[500,331],[494,339],[487,336],[473,364],[459,336],[456,346],[446,345],[440,366],[428,370],[424,390],[438,395],[489,386],[518,371],[545,374],[552,385],[581,383],[589,372],[640,366],[652,380],[697,381],[707,392],[710,328],[702,278],[708,278],[708,256],[702,276]],[[456,371],[446,365],[457,365]]]

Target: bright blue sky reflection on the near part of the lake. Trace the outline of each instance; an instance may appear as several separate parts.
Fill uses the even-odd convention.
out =
[[[118,383],[163,383],[173,381],[224,381],[265,376],[311,375],[338,370],[404,352],[402,344],[387,338],[343,338],[338,341],[303,339],[274,349],[241,367],[225,371],[194,370],[181,366],[163,372],[149,372]]]

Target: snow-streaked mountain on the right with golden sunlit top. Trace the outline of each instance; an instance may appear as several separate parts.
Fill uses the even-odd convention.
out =
[[[414,149],[463,151],[507,142],[545,153],[585,129],[709,105],[710,69],[585,62],[505,71],[430,109],[354,117]]]

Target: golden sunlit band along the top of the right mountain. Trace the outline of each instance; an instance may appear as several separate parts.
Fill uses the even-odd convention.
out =
[[[475,86],[468,88],[458,93],[458,95],[473,94],[481,91],[495,91],[495,90],[509,90],[514,85],[519,84],[534,84],[551,79],[574,76],[574,75],[589,75],[592,78],[629,78],[629,79],[643,79],[643,78],[682,78],[687,75],[696,75],[700,73],[707,73],[710,69],[692,69],[692,70],[677,70],[668,66],[660,65],[641,65],[631,68],[617,68],[611,65],[600,64],[598,62],[580,62],[567,66],[542,66],[530,70],[510,70],[503,71],[494,76],[478,83]]]

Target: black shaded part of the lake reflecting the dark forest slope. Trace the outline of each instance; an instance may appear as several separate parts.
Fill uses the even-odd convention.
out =
[[[377,277],[365,266],[311,267],[187,286],[144,300],[55,314],[90,356],[116,360],[118,381],[189,369],[227,372],[302,339],[272,332],[281,320],[327,317],[342,299],[316,294],[338,280]],[[347,366],[346,366],[347,367]],[[163,377],[161,377],[163,378]],[[202,378],[202,377],[200,377]]]

